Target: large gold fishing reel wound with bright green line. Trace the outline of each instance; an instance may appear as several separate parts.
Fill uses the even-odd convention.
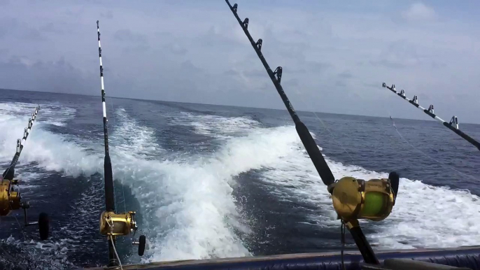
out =
[[[395,176],[397,176],[396,173]],[[339,218],[344,222],[386,219],[395,205],[398,190],[398,178],[395,176],[393,179],[381,178],[367,181],[353,177],[338,180],[330,190],[333,189],[333,207]]]

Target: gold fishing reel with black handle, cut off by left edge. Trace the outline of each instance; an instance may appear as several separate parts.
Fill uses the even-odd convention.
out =
[[[23,209],[24,226],[38,225],[40,239],[48,239],[49,219],[46,213],[38,215],[38,221],[29,222],[27,219],[27,209],[30,208],[29,201],[22,201],[20,191],[18,191],[18,180],[8,180],[0,178],[0,216],[10,214],[11,211]]]

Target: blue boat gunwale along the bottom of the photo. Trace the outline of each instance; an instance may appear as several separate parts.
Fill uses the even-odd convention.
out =
[[[472,267],[473,263],[474,266],[477,266],[474,269],[480,268],[480,246],[376,250],[375,253],[381,262],[387,259],[411,259],[435,262],[452,267]],[[346,269],[360,269],[362,262],[363,259],[360,252],[345,250],[344,263]],[[340,266],[340,252],[334,251],[206,260],[174,260],[148,264],[129,264],[124,265],[123,269],[340,269]],[[88,269],[99,270],[108,268],[94,267]]]

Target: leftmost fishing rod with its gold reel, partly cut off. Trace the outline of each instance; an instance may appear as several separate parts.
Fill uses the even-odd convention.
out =
[[[50,227],[48,214],[40,213],[40,215],[38,215],[38,221],[28,221],[27,209],[30,208],[30,202],[22,201],[22,196],[20,195],[20,190],[18,188],[18,179],[15,179],[15,166],[17,165],[18,159],[20,158],[20,154],[22,154],[23,150],[22,142],[27,141],[39,109],[40,105],[36,106],[34,113],[31,114],[31,118],[29,118],[28,121],[28,126],[23,130],[23,137],[21,139],[17,139],[17,148],[15,149],[15,155],[13,155],[12,162],[10,162],[8,168],[3,171],[2,177],[0,178],[0,216],[8,215],[11,211],[22,208],[24,214],[24,226],[27,227],[31,225],[38,225],[40,239],[45,240],[48,239],[48,231]]]

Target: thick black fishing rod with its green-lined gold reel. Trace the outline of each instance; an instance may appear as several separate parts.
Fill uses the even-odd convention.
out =
[[[380,221],[390,215],[393,205],[395,205],[400,176],[398,176],[397,173],[392,172],[388,178],[370,179],[365,181],[353,177],[344,177],[335,181],[333,173],[327,162],[325,162],[325,159],[318,149],[316,142],[313,140],[309,129],[307,129],[304,123],[299,119],[290,100],[285,94],[285,91],[283,91],[283,87],[281,86],[282,67],[278,66],[275,71],[271,71],[267,60],[265,60],[262,54],[262,39],[258,39],[257,42],[253,41],[253,38],[248,31],[248,17],[242,21],[237,14],[237,3],[232,6],[229,0],[225,1],[230,7],[233,15],[237,18],[237,21],[250,41],[253,50],[257,52],[257,56],[260,58],[271,82],[274,83],[290,117],[293,122],[295,122],[295,129],[297,129],[297,134],[299,135],[306,152],[308,152],[318,175],[323,183],[327,185],[328,191],[332,194],[333,206],[339,219],[341,219],[342,228],[347,227],[348,231],[351,232],[353,240],[358,246],[358,250],[360,250],[363,260],[367,264],[379,264],[379,260],[376,258],[372,247],[365,238],[365,234],[363,234],[358,220],[368,219]],[[344,230],[342,229],[342,235],[343,232]]]

